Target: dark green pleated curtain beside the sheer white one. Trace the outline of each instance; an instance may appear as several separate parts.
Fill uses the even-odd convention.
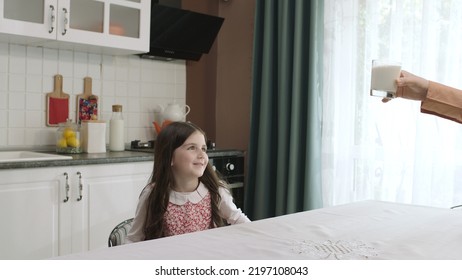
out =
[[[322,207],[322,0],[257,0],[245,212]]]

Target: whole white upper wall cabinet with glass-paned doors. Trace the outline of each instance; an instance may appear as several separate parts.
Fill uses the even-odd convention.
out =
[[[115,55],[149,51],[150,0],[0,0],[0,40]]]

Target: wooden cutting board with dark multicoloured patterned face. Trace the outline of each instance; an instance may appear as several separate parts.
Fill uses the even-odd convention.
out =
[[[92,80],[83,79],[83,93],[77,95],[77,123],[98,119],[98,96],[92,93]]]

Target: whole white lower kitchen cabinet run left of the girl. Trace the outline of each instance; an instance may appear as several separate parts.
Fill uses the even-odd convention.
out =
[[[0,170],[0,259],[45,259],[107,247],[133,217],[152,162]]]

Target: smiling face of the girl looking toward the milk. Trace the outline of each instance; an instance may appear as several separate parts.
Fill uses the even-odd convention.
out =
[[[199,131],[191,134],[183,145],[173,152],[171,164],[175,178],[187,181],[201,177],[209,162],[206,151],[204,135]]]

